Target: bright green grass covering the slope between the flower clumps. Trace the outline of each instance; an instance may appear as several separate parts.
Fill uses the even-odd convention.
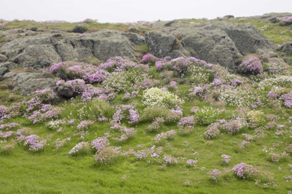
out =
[[[190,21],[192,22],[192,21]],[[248,22],[248,21],[240,21]],[[254,24],[257,28],[261,28],[266,24],[257,21]],[[8,28],[24,27],[29,28],[31,24],[22,24],[22,22],[15,21],[8,24]],[[101,28],[113,28],[124,30],[128,26],[96,26],[96,30]],[[117,24],[119,25],[119,24]],[[40,25],[38,25],[40,27]],[[44,24],[40,28],[62,29],[70,30],[73,24]],[[279,37],[279,32],[286,27],[279,27],[277,24],[272,25],[268,30],[263,31],[265,35],[275,35],[270,37],[277,44],[282,44],[285,37],[291,38],[290,35],[282,35]],[[92,28],[91,28],[92,30]],[[285,37],[284,37],[285,36]],[[141,48],[146,49],[146,48]],[[184,92],[187,91],[188,85],[179,86]],[[8,91],[1,91],[1,98],[3,100],[1,105],[9,104]],[[6,97],[5,97],[6,96]],[[14,100],[19,100],[15,97]],[[136,100],[140,100],[137,98]],[[120,100],[115,100],[115,103],[122,103]],[[194,105],[208,105],[206,103],[186,102],[184,105],[184,116],[188,116],[189,110]],[[61,106],[61,105],[60,105]],[[76,112],[74,106],[70,103],[65,104],[65,108]],[[227,116],[234,112],[235,107],[227,107]],[[143,112],[143,109],[139,109]],[[275,113],[273,109],[265,109],[266,113]],[[291,112],[286,109],[286,112],[291,115]],[[63,117],[66,117],[70,112],[65,112]],[[281,114],[281,113],[277,113]],[[49,145],[44,148],[42,152],[31,153],[23,146],[17,145],[15,150],[10,155],[0,155],[0,193],[286,193],[292,190],[291,183],[285,182],[284,175],[290,175],[288,164],[291,161],[283,160],[279,163],[269,161],[268,155],[261,150],[263,146],[270,148],[273,143],[283,141],[284,143],[291,143],[291,140],[276,139],[273,135],[275,131],[271,131],[268,136],[263,138],[263,141],[250,143],[246,145],[247,148],[239,149],[241,141],[244,137],[241,134],[235,136],[224,134],[218,139],[206,140],[202,134],[206,131],[206,127],[196,125],[195,132],[189,136],[177,136],[177,139],[171,141],[172,145],[166,148],[167,152],[175,157],[188,157],[188,159],[195,159],[192,156],[193,152],[199,152],[197,156],[198,166],[197,170],[187,168],[182,164],[168,166],[161,168],[158,164],[148,164],[146,161],[136,161],[136,159],[120,159],[112,166],[95,166],[92,155],[94,153],[88,152],[87,155],[79,157],[68,156],[67,153],[71,150],[79,140],[72,135],[72,141],[65,143],[63,148],[54,150],[54,141],[56,139],[64,139],[69,135],[64,135],[64,132],[52,132],[44,123],[33,124],[24,118],[15,118],[16,122],[23,123],[27,127],[33,129],[34,134],[39,134],[42,137],[47,137],[49,134],[54,134]],[[136,127],[138,134],[131,139],[131,141],[122,144],[124,150],[133,148],[138,150],[136,145],[143,144],[149,148],[153,144],[151,139],[156,134],[144,134],[147,124],[141,124]],[[76,126],[75,126],[76,127]],[[90,135],[86,136],[84,141],[95,139],[97,136],[102,136],[107,132],[110,125],[95,124],[90,129]],[[176,125],[166,126],[163,131],[177,130]],[[65,128],[65,132],[70,132],[70,127]],[[96,134],[95,134],[96,133]],[[253,134],[253,130],[245,130],[243,133]],[[184,146],[184,141],[188,141],[188,147]],[[211,142],[211,143],[209,143]],[[283,143],[283,144],[284,144]],[[284,145],[280,145],[279,150],[284,149]],[[111,145],[120,146],[117,141],[111,141]],[[222,170],[228,167],[222,165],[220,162],[220,155],[226,154],[232,156],[232,161],[229,167],[232,167],[240,162],[252,164],[254,166],[261,166],[263,170],[275,174],[274,181],[278,186],[273,188],[260,188],[254,184],[253,180],[238,180],[234,177],[224,179],[221,182],[211,182],[206,173],[213,168]],[[205,170],[200,168],[205,167]],[[279,170],[279,167],[282,170]],[[127,179],[122,181],[122,176],[127,175]],[[185,186],[184,182],[189,180],[190,186]],[[261,186],[262,187],[262,186]]]

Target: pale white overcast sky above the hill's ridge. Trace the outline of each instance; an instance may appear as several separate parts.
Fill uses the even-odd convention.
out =
[[[292,12],[292,0],[0,0],[0,19],[156,21]]]

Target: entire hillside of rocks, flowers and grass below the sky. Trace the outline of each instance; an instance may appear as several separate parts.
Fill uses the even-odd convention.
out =
[[[292,14],[0,20],[0,193],[291,193]]]

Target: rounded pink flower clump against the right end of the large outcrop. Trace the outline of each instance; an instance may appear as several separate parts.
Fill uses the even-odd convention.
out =
[[[238,69],[246,74],[257,75],[259,73],[263,73],[263,64],[261,64],[261,60],[259,60],[259,58],[249,57],[241,62]]]

